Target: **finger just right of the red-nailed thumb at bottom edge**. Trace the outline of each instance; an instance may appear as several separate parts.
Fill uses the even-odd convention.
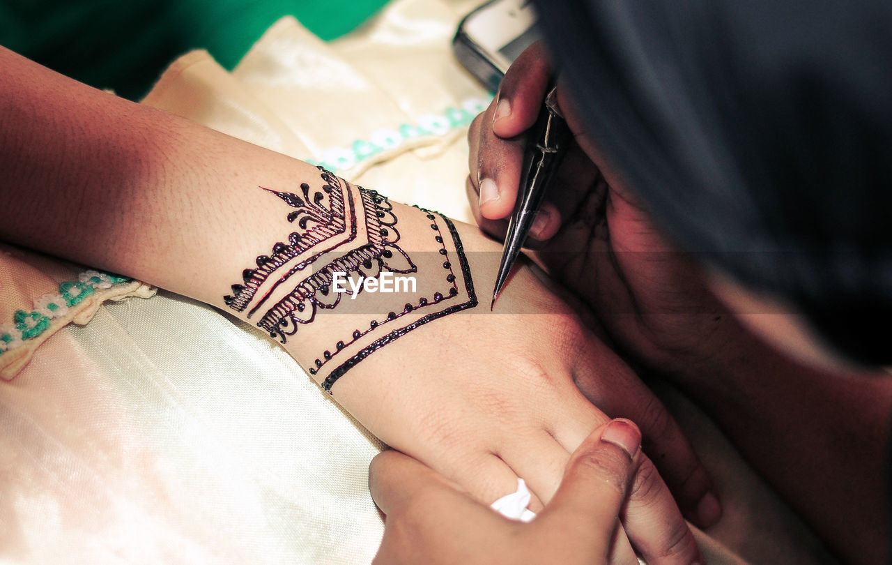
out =
[[[691,565],[703,556],[654,464],[642,455],[623,512],[626,534],[648,565]]]

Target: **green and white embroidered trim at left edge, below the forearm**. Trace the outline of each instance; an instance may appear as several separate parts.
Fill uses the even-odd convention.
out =
[[[119,277],[110,273],[87,270],[78,275],[77,281],[65,281],[59,285],[58,294],[41,296],[30,311],[17,310],[12,315],[12,324],[0,326],[0,355],[20,347],[28,339],[42,335],[56,318],[68,313],[71,306],[83,302],[87,296],[119,283],[128,283],[132,278]]]

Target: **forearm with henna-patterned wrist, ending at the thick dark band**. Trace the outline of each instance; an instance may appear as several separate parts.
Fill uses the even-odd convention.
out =
[[[441,215],[8,51],[0,65],[12,78],[0,96],[4,240],[223,308],[326,388],[476,306],[459,228]]]

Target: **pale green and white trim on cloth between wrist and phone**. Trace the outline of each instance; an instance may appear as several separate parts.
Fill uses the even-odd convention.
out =
[[[318,160],[307,159],[313,165],[337,172],[347,170],[359,162],[390,151],[415,137],[442,136],[453,129],[467,128],[476,115],[486,109],[492,98],[467,98],[459,107],[450,106],[440,114],[426,114],[416,124],[404,123],[397,129],[378,129],[369,139],[357,139],[350,147],[334,147]]]

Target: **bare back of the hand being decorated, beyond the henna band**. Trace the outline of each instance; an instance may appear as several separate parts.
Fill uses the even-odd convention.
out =
[[[394,211],[408,223],[411,209],[394,204]],[[385,443],[482,503],[514,492],[516,479],[524,478],[538,511],[557,489],[570,453],[608,417],[652,421],[653,411],[664,411],[657,420],[671,420],[624,361],[583,325],[580,309],[554,295],[529,262],[520,263],[491,312],[500,245],[472,226],[456,229],[478,305],[377,350],[332,393]],[[332,320],[340,323],[339,316]],[[578,382],[603,386],[599,407],[585,399]],[[670,423],[660,431],[659,453],[705,478],[678,428]]]

